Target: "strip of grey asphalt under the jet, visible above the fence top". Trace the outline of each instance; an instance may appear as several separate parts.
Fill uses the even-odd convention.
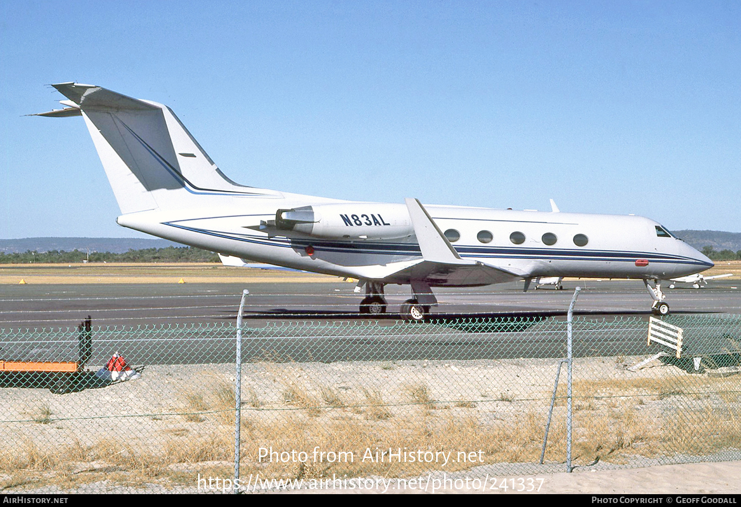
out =
[[[564,290],[547,287],[522,292],[523,283],[482,288],[436,288],[436,317],[565,315],[576,285],[582,293],[575,314],[594,317],[639,315],[648,319],[651,297],[639,280],[565,282]],[[741,281],[719,280],[707,288],[665,288],[673,314],[741,314]],[[66,328],[90,315],[93,325],[210,323],[236,319],[247,288],[245,318],[359,319],[364,294],[348,282],[186,283],[94,285],[0,285],[0,329]],[[389,312],[411,297],[408,286],[388,285]]]

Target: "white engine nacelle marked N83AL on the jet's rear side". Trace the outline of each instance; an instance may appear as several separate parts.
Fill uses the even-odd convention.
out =
[[[411,236],[414,228],[406,205],[348,202],[278,210],[274,226],[326,239],[396,239]]]

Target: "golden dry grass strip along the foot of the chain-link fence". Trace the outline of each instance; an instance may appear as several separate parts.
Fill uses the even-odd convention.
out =
[[[378,391],[362,389],[365,418],[356,417],[350,408],[333,409],[335,417],[310,416],[309,409],[265,414],[257,420],[245,420],[242,431],[242,473],[260,473],[265,477],[327,477],[417,474],[429,465],[395,465],[361,460],[370,449],[410,448],[453,451],[466,457],[473,453],[474,463],[453,463],[448,471],[470,468],[482,463],[534,463],[539,458],[544,417],[533,409],[513,412],[503,420],[482,422],[475,411],[419,411],[392,416]],[[574,462],[585,465],[594,460],[623,463],[634,455],[655,456],[667,450],[707,453],[711,448],[740,446],[738,411],[703,411],[693,414],[676,411],[668,420],[646,420],[634,410],[634,400],[622,400],[613,408],[603,409],[588,420],[576,417]],[[657,401],[658,402],[658,401]],[[346,414],[336,417],[337,414]],[[436,415],[442,414],[442,415]],[[547,460],[562,460],[565,455],[564,409],[556,408],[548,438]],[[201,428],[202,425],[194,426]],[[79,442],[44,447],[27,441],[20,452],[0,453],[0,468],[5,487],[35,484],[39,474],[53,473],[54,481],[69,487],[86,481],[108,480],[127,484],[174,482],[189,485],[192,474],[213,468],[228,474],[233,460],[233,435],[226,425],[205,433],[172,428],[163,431],[157,445],[127,444],[119,440],[101,440],[93,445]],[[352,453],[353,463],[324,460],[318,463],[258,463],[258,447],[296,449],[308,454],[320,451]],[[479,452],[480,451],[480,452]],[[81,465],[82,463],[82,465]],[[87,465],[85,465],[87,463]],[[187,468],[193,465],[195,468]],[[183,468],[185,467],[185,468]],[[105,472],[103,474],[103,472]],[[215,473],[216,473],[215,472]],[[36,477],[36,479],[34,479]],[[2,485],[0,485],[2,486]]]

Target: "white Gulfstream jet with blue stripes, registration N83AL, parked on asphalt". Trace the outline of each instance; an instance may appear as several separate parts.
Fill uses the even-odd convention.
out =
[[[121,208],[119,225],[245,261],[359,279],[362,313],[386,311],[384,286],[411,285],[401,307],[423,319],[433,287],[548,276],[642,279],[668,314],[660,280],[708,257],[642,216],[353,202],[228,179],[169,107],[90,84],[53,84],[67,100],[38,116],[82,116]]]

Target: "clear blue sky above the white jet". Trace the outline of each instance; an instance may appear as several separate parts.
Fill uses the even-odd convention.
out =
[[[0,237],[142,236],[45,84],[169,105],[237,182],[741,232],[738,1],[4,1]]]

